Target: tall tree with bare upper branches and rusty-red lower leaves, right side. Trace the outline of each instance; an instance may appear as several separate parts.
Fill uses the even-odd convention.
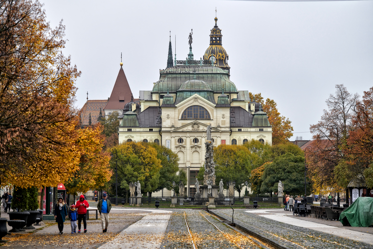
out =
[[[346,159],[344,150],[354,127],[354,107],[358,100],[358,94],[350,94],[344,85],[336,85],[335,95],[326,101],[328,110],[324,110],[317,124],[310,126],[314,141],[309,153],[306,151],[306,160],[310,174],[316,176],[315,188],[333,187],[338,181],[335,167]]]

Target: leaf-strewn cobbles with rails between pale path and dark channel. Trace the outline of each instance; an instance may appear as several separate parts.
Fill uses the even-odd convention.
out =
[[[221,231],[217,230],[204,217],[214,223]],[[191,234],[188,232],[185,218],[190,226]],[[199,249],[270,248],[220,222],[205,211],[173,210],[160,248],[193,249],[192,241]]]

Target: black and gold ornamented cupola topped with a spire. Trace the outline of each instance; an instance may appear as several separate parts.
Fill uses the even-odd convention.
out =
[[[215,26],[210,33],[210,46],[206,49],[204,60],[209,60],[217,67],[228,70],[231,68],[228,65],[228,54],[222,46],[222,30],[217,24],[218,18],[215,17]]]

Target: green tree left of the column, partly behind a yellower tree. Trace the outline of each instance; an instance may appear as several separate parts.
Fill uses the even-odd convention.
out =
[[[179,178],[176,175],[176,172],[179,170],[179,157],[165,146],[156,143],[149,143],[149,145],[157,151],[157,158],[161,160],[162,165],[159,170],[159,183],[154,191],[162,190],[163,188],[171,190],[172,182],[179,182]],[[184,184],[186,184],[186,181]]]

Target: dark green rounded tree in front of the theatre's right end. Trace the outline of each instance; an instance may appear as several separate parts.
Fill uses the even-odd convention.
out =
[[[284,193],[302,194],[304,191],[304,157],[286,153],[276,157],[263,171],[260,192],[277,192],[278,181],[284,183]],[[308,180],[309,181],[309,180]],[[310,193],[310,186],[307,187]]]

